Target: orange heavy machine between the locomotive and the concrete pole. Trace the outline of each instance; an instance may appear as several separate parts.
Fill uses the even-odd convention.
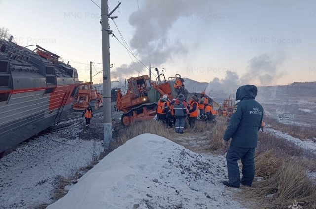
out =
[[[81,111],[85,108],[92,107],[92,110],[97,110],[103,106],[103,96],[96,87],[93,87],[91,82],[80,82],[77,100],[73,104],[73,110]]]

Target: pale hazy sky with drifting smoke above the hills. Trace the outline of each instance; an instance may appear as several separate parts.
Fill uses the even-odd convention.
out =
[[[152,67],[164,68],[167,77],[179,73],[221,82],[232,71],[235,76],[227,78],[238,84],[316,80],[315,0],[120,2],[113,15],[129,47],[145,65],[151,60]],[[110,9],[117,4],[109,0]],[[91,0],[0,0],[0,11],[0,27],[8,28],[18,44],[38,44],[72,60],[80,80],[89,80],[90,61],[102,62],[100,9]],[[110,47],[112,71],[120,79],[137,71],[148,74],[112,36]],[[93,74],[102,69],[95,68]]]

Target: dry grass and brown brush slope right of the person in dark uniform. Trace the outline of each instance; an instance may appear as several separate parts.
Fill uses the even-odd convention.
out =
[[[246,188],[246,199],[258,208],[285,209],[294,200],[304,209],[316,208],[316,183],[307,176],[316,170],[316,154],[294,142],[269,133],[259,133],[255,156],[256,176],[262,181]]]

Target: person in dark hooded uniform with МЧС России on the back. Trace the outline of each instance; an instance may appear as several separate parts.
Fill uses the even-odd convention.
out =
[[[240,183],[251,186],[255,175],[254,152],[258,142],[258,131],[261,128],[263,107],[255,101],[257,87],[244,85],[236,91],[236,101],[229,124],[223,136],[223,144],[230,147],[226,154],[229,181],[223,181],[228,187],[239,188]],[[242,179],[237,161],[241,159]]]

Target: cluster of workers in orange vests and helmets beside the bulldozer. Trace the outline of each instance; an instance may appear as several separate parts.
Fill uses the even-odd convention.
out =
[[[195,126],[197,117],[200,119],[214,122],[216,111],[208,103],[208,97],[205,92],[201,93],[201,98],[192,95],[189,101],[185,100],[183,94],[179,94],[176,98],[169,100],[165,94],[158,101],[157,121],[162,121],[169,127],[175,127],[176,133],[183,133],[185,119],[191,128]]]

